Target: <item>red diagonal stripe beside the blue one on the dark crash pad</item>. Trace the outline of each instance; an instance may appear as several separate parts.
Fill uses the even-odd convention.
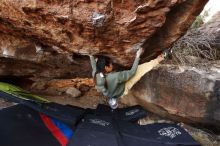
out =
[[[40,117],[43,120],[44,124],[50,130],[50,132],[53,134],[53,136],[59,141],[59,143],[62,146],[66,146],[68,139],[61,132],[61,130],[59,128],[57,128],[57,126],[53,123],[53,121],[50,118],[43,115],[42,113],[39,113],[39,114],[40,114]]]

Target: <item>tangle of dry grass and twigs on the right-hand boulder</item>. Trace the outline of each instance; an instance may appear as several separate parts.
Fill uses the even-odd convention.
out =
[[[200,59],[215,60],[216,49],[212,48],[215,42],[213,33],[204,33],[199,30],[189,30],[172,47],[173,59],[178,64],[195,65]]]

